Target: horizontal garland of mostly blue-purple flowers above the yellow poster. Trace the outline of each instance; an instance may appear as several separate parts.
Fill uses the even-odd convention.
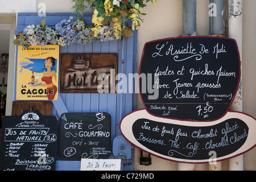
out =
[[[119,40],[122,36],[122,31],[118,24],[106,26],[104,18],[97,17],[95,12],[95,27],[88,27],[81,18],[77,20],[63,19],[57,23],[55,27],[44,26],[46,19],[40,25],[28,25],[23,32],[16,35],[14,40],[15,45],[23,46],[45,46],[47,44],[59,44],[67,46],[72,43],[88,44],[96,41]],[[118,32],[119,31],[119,32]]]

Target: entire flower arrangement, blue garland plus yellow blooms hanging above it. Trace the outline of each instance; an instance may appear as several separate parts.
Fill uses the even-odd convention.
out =
[[[156,0],[151,1],[155,4]],[[45,25],[46,19],[38,25],[28,25],[23,32],[16,35],[15,45],[24,48],[29,46],[45,46],[47,44],[59,44],[67,46],[72,43],[87,44],[96,41],[119,40],[133,35],[126,26],[127,20],[132,20],[132,29],[140,27],[141,10],[146,5],[143,0],[73,0],[75,2],[75,14],[77,19],[63,19],[55,27]],[[85,8],[91,6],[94,9],[92,26],[86,26],[79,14],[84,13]]]

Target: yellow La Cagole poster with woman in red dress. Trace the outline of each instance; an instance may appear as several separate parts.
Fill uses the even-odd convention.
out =
[[[57,100],[59,45],[18,46],[16,100]]]

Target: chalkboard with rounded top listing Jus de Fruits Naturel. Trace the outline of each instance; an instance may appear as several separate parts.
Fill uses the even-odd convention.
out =
[[[35,110],[3,117],[0,169],[55,170],[58,122]]]

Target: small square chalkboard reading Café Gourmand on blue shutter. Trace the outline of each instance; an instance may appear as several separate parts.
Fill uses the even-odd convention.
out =
[[[63,113],[59,125],[59,158],[108,159],[111,152],[109,113]]]

